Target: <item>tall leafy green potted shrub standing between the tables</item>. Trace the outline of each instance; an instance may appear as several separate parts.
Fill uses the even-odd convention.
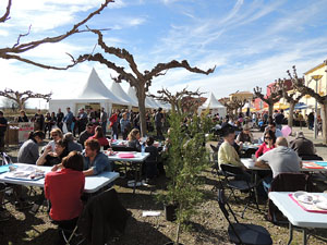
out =
[[[159,195],[166,206],[175,208],[177,234],[174,242],[170,243],[175,245],[179,244],[181,229],[186,228],[191,216],[196,213],[196,206],[203,200],[199,175],[209,163],[205,134],[210,128],[210,119],[193,115],[185,123],[184,118],[177,113],[170,118],[170,147],[166,164],[169,182],[167,192]]]

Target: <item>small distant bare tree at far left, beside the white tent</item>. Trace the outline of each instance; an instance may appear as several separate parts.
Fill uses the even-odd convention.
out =
[[[8,88],[5,88],[4,90],[0,90],[0,96],[3,96],[5,98],[13,100],[19,106],[20,110],[24,109],[24,106],[25,106],[25,102],[27,99],[39,98],[39,99],[45,99],[48,102],[51,98],[51,95],[52,95],[51,93],[50,94],[38,94],[38,93],[31,91],[31,90],[20,93],[20,91],[14,91],[14,90],[8,89]]]

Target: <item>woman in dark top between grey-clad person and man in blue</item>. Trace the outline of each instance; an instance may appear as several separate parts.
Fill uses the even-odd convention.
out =
[[[56,166],[68,156],[66,143],[62,139],[56,142],[55,151],[51,151],[51,146],[47,146],[43,155],[37,159],[37,166]]]

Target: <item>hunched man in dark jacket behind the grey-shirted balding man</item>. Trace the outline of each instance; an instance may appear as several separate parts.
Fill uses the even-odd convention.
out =
[[[290,148],[295,150],[302,160],[323,160],[316,155],[313,142],[305,138],[302,131],[296,133],[295,139],[290,143]]]

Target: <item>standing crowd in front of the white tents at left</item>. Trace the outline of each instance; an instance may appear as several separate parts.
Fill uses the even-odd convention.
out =
[[[123,139],[128,138],[128,134],[132,128],[140,130],[140,113],[128,109],[114,109],[110,114],[105,111],[105,108],[94,110],[93,108],[81,108],[74,114],[71,108],[65,109],[64,113],[61,109],[58,112],[46,112],[41,110],[32,118],[27,118],[24,110],[15,119],[16,122],[34,122],[35,131],[43,131],[48,138],[51,137],[52,128],[72,132],[74,136],[81,135],[85,131],[88,123],[99,125],[102,128],[104,135],[108,128],[111,128],[112,137],[118,138],[120,135]],[[167,130],[167,115],[162,108],[146,111],[146,130],[147,132],[157,131],[157,137],[162,137],[162,132]]]

